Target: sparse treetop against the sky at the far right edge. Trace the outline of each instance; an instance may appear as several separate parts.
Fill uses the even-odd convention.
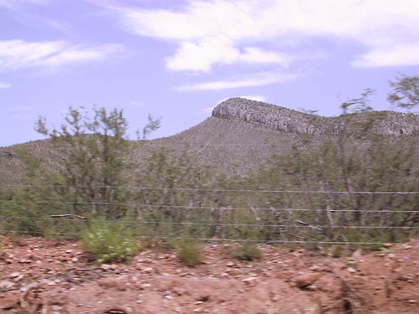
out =
[[[419,107],[419,75],[402,74],[389,84],[392,91],[388,94],[387,100],[392,105],[407,110]]]

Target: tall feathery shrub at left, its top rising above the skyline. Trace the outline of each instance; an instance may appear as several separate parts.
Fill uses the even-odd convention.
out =
[[[60,128],[49,130],[45,117],[39,117],[36,130],[49,136],[61,153],[59,181],[73,187],[73,202],[94,204],[121,200],[123,191],[112,187],[126,184],[131,149],[128,122],[122,110],[108,112],[104,107],[94,107],[91,115],[83,107],[69,107]],[[104,204],[101,209],[105,216],[117,216],[115,207]],[[96,211],[94,205],[91,211]],[[75,212],[82,214],[77,209]]]

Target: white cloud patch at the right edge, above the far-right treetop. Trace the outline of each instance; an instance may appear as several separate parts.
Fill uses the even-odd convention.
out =
[[[361,54],[351,64],[360,68],[419,65],[419,43],[377,47]]]

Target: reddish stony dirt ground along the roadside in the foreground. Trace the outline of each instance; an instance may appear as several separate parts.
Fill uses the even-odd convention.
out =
[[[339,258],[263,245],[253,262],[207,244],[194,268],[173,251],[97,265],[75,242],[0,243],[0,313],[419,313],[418,240]]]

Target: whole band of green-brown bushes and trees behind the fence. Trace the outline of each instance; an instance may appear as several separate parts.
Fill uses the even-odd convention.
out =
[[[404,84],[392,86],[400,93]],[[413,90],[411,84],[406,89]],[[245,179],[197,163],[196,152],[188,149],[182,154],[157,149],[133,163],[128,124],[119,110],[94,108],[89,114],[70,108],[61,128],[53,130],[40,118],[37,129],[60,152],[59,165],[43,167],[20,150],[24,186],[0,190],[0,229],[80,237],[92,227],[89,221],[101,217],[109,234],[124,230],[142,237],[285,243],[409,239],[419,226],[419,195],[411,193],[419,186],[418,139],[375,133],[384,116],[368,114],[371,93],[367,89],[342,105],[344,113],[361,112],[362,119],[343,114],[337,135],[310,147],[307,134]],[[158,119],[149,122],[144,136],[159,127]],[[402,193],[383,193],[388,191]]]

